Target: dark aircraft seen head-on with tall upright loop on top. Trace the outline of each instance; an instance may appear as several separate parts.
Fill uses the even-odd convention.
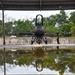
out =
[[[45,29],[43,27],[43,16],[41,14],[36,15],[35,28],[32,33],[19,33],[20,35],[31,35],[31,44],[34,42],[41,44],[44,42],[47,44],[47,38],[45,36]]]

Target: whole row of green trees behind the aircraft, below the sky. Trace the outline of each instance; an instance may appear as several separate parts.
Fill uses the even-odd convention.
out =
[[[44,17],[43,24],[46,32],[60,33],[60,36],[75,36],[75,11],[68,16],[65,10],[60,10],[59,14]],[[32,32],[34,27],[35,18],[31,21],[28,19],[12,20],[5,22],[5,34]],[[2,20],[0,20],[0,36],[2,36],[2,32]]]

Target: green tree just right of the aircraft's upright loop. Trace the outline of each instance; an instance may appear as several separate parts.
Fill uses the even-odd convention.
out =
[[[55,28],[56,16],[51,15],[50,17],[44,18],[44,27],[47,32],[56,32],[57,28]]]

